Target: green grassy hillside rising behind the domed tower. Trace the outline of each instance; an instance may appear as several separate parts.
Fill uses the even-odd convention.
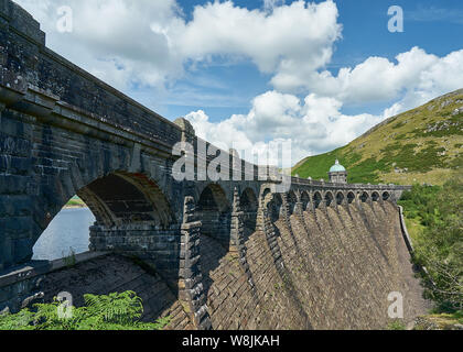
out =
[[[327,178],[340,160],[349,183],[442,185],[463,167],[463,89],[378,124],[346,146],[311,156],[292,174]]]

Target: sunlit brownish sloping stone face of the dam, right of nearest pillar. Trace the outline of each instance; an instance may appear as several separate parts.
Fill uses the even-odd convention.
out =
[[[282,216],[263,229],[245,243],[251,283],[238,258],[202,238],[214,329],[384,329],[392,292],[407,322],[429,308],[390,202]]]

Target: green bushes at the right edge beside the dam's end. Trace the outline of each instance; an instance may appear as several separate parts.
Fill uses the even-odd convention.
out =
[[[413,186],[399,204],[405,216],[424,228],[414,239],[414,261],[423,275],[426,296],[438,312],[463,309],[463,177],[443,187]]]

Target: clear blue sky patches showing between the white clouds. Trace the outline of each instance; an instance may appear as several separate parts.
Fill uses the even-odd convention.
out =
[[[195,6],[207,1],[179,1],[185,15],[191,20]],[[247,9],[262,8],[262,1],[234,1]],[[293,1],[286,1],[291,3]],[[323,2],[323,1],[314,1]],[[343,37],[336,43],[332,62],[327,69],[333,74],[341,67],[355,66],[369,56],[383,56],[394,61],[396,55],[419,46],[426,52],[444,56],[463,47],[463,1],[455,0],[354,0],[335,1],[340,11],[338,22],[343,24]],[[405,11],[403,33],[389,33],[387,23],[390,16],[387,10],[397,4]],[[460,35],[459,35],[460,33]],[[207,77],[222,82],[214,88],[201,87],[196,78]],[[215,92],[235,97],[229,103],[217,102],[208,106],[175,103],[175,97],[168,100],[165,107],[160,107],[169,119],[185,116],[192,110],[204,110],[213,121],[219,121],[234,113],[246,113],[251,107],[251,100],[259,94],[271,89],[271,75],[265,75],[251,63],[240,63],[234,66],[205,66],[197,73],[192,73],[187,79],[179,81],[179,89],[200,89],[204,95]],[[463,84],[462,84],[463,85]],[[344,107],[346,113],[380,113],[391,101],[379,103],[353,105]]]

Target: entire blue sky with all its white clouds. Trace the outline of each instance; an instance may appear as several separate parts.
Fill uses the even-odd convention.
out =
[[[292,164],[463,86],[462,1],[17,2],[47,46],[165,118],[240,151],[291,140]]]

